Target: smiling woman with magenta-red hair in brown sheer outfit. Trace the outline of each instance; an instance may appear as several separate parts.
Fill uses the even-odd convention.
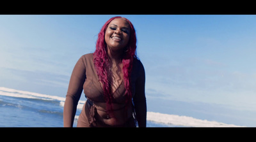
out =
[[[146,127],[145,70],[136,58],[136,32],[123,17],[110,18],[94,53],[83,55],[70,77],[63,111],[72,127],[81,92],[87,98],[77,127]]]

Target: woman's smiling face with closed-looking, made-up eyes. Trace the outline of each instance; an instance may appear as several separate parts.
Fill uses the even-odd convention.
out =
[[[105,41],[111,50],[124,50],[129,42],[130,28],[128,22],[123,18],[112,20],[105,32]]]

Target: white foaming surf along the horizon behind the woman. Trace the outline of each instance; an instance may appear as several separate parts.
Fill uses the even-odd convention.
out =
[[[42,101],[52,101],[54,103],[59,103],[60,106],[64,106],[65,97],[59,96],[50,96],[46,94],[38,94],[35,92],[28,92],[23,90],[8,89],[5,87],[0,87],[1,96],[10,96],[10,97],[20,97],[26,99],[36,99]],[[57,101],[57,102],[56,102]],[[77,110],[82,110],[83,104],[85,101],[79,101],[77,104]],[[42,110],[43,113],[56,113],[55,111]],[[57,112],[58,113],[58,112]],[[61,114],[58,114],[61,115]],[[78,115],[75,117],[75,121],[78,119]],[[209,121],[209,120],[200,120],[193,117],[179,116],[179,115],[170,115],[157,112],[147,112],[147,121],[155,122],[158,124],[166,125],[176,125],[182,127],[241,127],[233,124],[224,124],[221,122]]]

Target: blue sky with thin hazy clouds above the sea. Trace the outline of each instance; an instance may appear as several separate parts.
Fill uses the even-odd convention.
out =
[[[256,126],[256,15],[0,15],[0,87],[65,97],[115,16],[136,29],[148,110]]]

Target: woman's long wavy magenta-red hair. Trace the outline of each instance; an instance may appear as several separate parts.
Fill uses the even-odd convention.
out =
[[[123,18],[126,22],[130,25],[130,38],[127,46],[125,46],[124,54],[122,56],[122,64],[123,64],[123,78],[124,78],[124,85],[125,85],[125,103],[129,104],[132,102],[132,92],[131,92],[131,71],[132,71],[132,62],[136,57],[136,32],[132,25],[132,23],[124,17],[113,17],[110,18],[100,30],[98,34],[98,39],[96,43],[96,50],[93,53],[93,61],[95,64],[95,69],[97,70],[97,75],[99,76],[99,81],[102,83],[102,88],[104,92],[104,99],[106,101],[106,111],[113,116],[113,95],[111,93],[111,82],[109,82],[109,58],[108,58],[108,51],[107,51],[107,44],[104,39],[106,29],[109,23],[114,20],[115,18]],[[125,105],[125,108],[127,105]],[[125,109],[127,110],[127,108]]]

